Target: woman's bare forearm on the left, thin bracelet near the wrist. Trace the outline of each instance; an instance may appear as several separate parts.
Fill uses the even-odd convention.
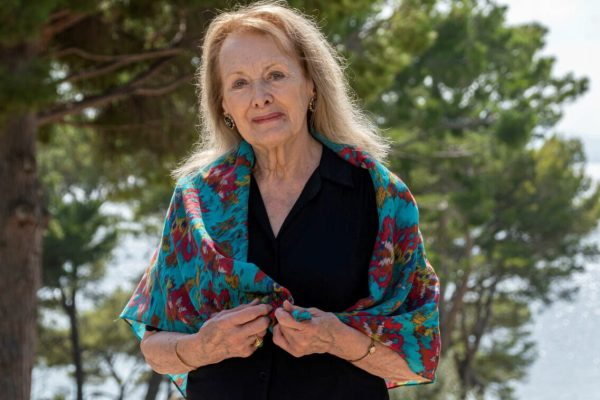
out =
[[[140,348],[154,371],[159,374],[181,374],[216,362],[205,354],[199,339],[198,334],[147,332]],[[175,344],[179,357],[175,353]]]

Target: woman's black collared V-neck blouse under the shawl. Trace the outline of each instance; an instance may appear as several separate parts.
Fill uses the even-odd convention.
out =
[[[315,169],[275,237],[251,179],[248,261],[287,287],[301,307],[339,312],[368,296],[367,268],[378,218],[367,170],[323,146]],[[365,349],[366,350],[366,349]],[[191,400],[383,400],[385,381],[330,354],[296,358],[273,344],[248,358],[191,371]]]

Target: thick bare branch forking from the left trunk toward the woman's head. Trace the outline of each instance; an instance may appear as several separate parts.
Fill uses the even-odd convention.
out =
[[[77,102],[71,102],[62,104],[53,110],[42,112],[37,115],[38,127],[49,124],[51,122],[61,121],[64,117],[71,114],[77,114],[86,108],[90,107],[102,107],[112,101],[121,100],[123,98],[133,96],[136,94],[145,96],[159,96],[168,93],[169,90],[174,90],[177,85],[175,82],[181,84],[186,79],[191,79],[193,74],[184,75],[183,77],[175,79],[173,82],[159,88],[142,88],[141,85],[148,79],[158,74],[170,61],[171,57],[160,60],[148,69],[133,78],[128,84],[124,86],[118,86],[107,90],[106,92],[85,97],[83,100]],[[138,93],[139,92],[139,93]]]

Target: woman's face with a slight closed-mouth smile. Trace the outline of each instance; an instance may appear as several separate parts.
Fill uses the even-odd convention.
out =
[[[269,35],[238,32],[219,54],[223,110],[253,146],[272,148],[308,134],[306,112],[313,83],[295,57]]]

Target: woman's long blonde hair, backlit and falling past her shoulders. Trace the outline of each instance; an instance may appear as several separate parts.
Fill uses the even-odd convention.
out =
[[[354,145],[383,161],[388,141],[378,134],[352,96],[344,77],[344,62],[327,42],[315,22],[281,1],[260,1],[219,14],[209,25],[197,72],[200,99],[200,141],[172,171],[175,179],[198,172],[220,156],[235,150],[242,137],[223,120],[219,53],[233,32],[254,31],[273,37],[283,51],[294,52],[308,79],[315,85],[317,101],[311,120],[314,128],[336,143]]]

